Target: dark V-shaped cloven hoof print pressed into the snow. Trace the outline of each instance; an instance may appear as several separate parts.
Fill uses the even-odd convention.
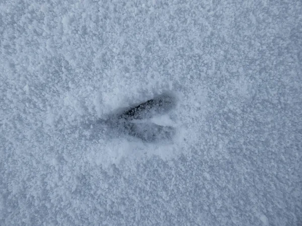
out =
[[[176,98],[171,94],[164,93],[131,106],[119,114],[113,114],[105,123],[110,128],[117,128],[119,133],[130,135],[143,141],[170,140],[175,135],[175,128],[160,126],[146,120],[166,114],[175,105]],[[100,120],[99,122],[104,121]]]

